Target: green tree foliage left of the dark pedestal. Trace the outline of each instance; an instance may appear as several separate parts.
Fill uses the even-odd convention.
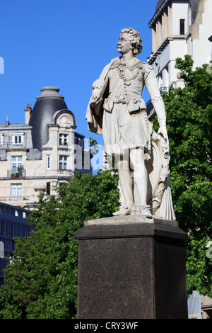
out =
[[[78,241],[83,222],[111,216],[119,205],[117,176],[110,171],[77,174],[59,196],[40,195],[30,215],[34,229],[16,238],[13,264],[0,290],[4,319],[70,319],[76,316]]]

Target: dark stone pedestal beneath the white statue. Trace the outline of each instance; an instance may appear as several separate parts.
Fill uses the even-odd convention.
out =
[[[187,318],[187,234],[177,222],[92,220],[75,237],[79,319]]]

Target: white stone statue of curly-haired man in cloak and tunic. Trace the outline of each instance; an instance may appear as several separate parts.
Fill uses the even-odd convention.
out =
[[[121,57],[112,59],[93,83],[86,113],[88,130],[103,135],[105,153],[117,163],[121,205],[113,215],[140,214],[152,218],[160,212],[158,217],[175,220],[169,185],[165,105],[153,67],[136,57],[142,46],[136,30],[121,31],[117,43]],[[153,131],[141,98],[144,86],[158,116],[158,134]]]

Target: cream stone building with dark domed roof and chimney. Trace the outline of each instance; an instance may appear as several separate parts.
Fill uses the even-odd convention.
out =
[[[76,120],[59,94],[45,86],[25,123],[0,124],[0,202],[33,209],[37,195],[55,193],[76,171],[90,173],[90,152]]]

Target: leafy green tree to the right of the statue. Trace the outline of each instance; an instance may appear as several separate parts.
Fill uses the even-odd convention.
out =
[[[189,55],[177,58],[184,89],[163,93],[170,142],[170,183],[179,227],[188,233],[187,288],[211,293],[211,113],[208,64],[192,70]],[[156,128],[156,125],[155,125]]]

